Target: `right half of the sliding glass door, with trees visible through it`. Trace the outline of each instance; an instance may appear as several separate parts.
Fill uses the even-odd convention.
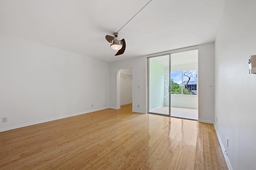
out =
[[[171,116],[198,120],[197,69],[197,49],[171,54]]]

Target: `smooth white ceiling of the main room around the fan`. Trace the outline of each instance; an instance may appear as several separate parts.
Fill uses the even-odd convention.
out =
[[[225,0],[0,0],[0,33],[112,62],[214,42]]]

